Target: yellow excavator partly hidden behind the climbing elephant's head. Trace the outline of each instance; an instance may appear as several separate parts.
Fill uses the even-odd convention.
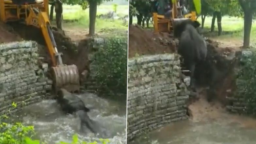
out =
[[[164,15],[153,12],[154,32],[171,32],[173,30],[173,24],[178,21],[187,19],[196,21],[195,11],[182,15],[181,8],[182,7],[180,7],[178,0],[176,0],[176,3],[172,3],[172,12],[170,13],[170,18],[165,18]]]

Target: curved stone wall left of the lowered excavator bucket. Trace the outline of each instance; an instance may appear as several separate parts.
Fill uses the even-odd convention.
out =
[[[16,110],[13,102],[19,108],[37,103],[49,95],[47,92],[51,90],[52,81],[39,68],[38,59],[36,42],[0,45],[0,115]]]

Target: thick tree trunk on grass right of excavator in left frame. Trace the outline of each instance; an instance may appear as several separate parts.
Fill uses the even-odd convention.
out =
[[[97,2],[94,0],[89,1],[89,35],[95,34],[95,22],[97,14]]]

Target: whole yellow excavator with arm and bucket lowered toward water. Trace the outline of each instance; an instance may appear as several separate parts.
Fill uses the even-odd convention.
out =
[[[80,88],[79,72],[76,65],[64,65],[61,53],[51,30],[48,0],[0,0],[0,20],[4,23],[17,22],[41,29],[51,57],[53,86],[68,91]]]

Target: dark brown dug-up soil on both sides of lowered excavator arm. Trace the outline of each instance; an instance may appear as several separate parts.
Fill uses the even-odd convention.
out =
[[[17,23],[0,24],[0,34],[0,42],[19,41],[21,38],[38,42],[40,57],[44,58],[43,62],[51,65],[50,55],[48,54],[40,29]],[[84,70],[89,70],[87,40],[80,41],[78,46],[76,46],[71,38],[66,36],[64,31],[53,27],[53,34],[58,52],[63,54],[63,63],[67,65],[75,64],[80,74]]]

